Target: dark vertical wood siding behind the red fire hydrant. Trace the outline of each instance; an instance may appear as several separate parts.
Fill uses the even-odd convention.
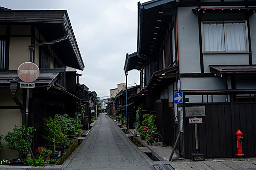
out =
[[[240,129],[243,133],[243,153],[246,157],[256,156],[256,103],[234,103],[235,129],[232,129],[232,114],[230,103],[186,103],[186,106],[205,106],[206,116],[198,126],[199,152],[208,158],[235,157],[236,138],[233,132]],[[186,146],[185,158],[195,153],[194,124],[189,124],[183,109],[184,136]],[[235,141],[235,142],[234,142]]]

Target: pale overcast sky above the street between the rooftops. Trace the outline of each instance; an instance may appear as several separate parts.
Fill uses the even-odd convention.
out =
[[[10,9],[66,9],[84,60],[80,84],[99,97],[125,83],[126,53],[137,51],[139,0],[0,0]],[[149,0],[140,0],[141,3]],[[139,71],[128,72],[128,86],[139,83]]]

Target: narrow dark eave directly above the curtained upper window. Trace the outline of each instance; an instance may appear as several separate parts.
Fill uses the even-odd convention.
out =
[[[206,14],[206,13],[246,13],[249,16],[256,12],[256,8],[195,8],[192,9],[195,14]]]

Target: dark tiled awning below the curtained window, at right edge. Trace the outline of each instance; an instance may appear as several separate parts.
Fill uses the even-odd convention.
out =
[[[256,74],[256,65],[215,65],[210,71],[220,77],[223,74]]]

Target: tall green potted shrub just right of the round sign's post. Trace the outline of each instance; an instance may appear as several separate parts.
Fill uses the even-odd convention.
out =
[[[63,138],[61,124],[56,118],[53,119],[52,117],[48,117],[44,119],[44,129],[47,131],[48,136],[43,137],[53,143],[50,158],[57,159],[59,153],[56,151],[56,147],[60,144],[60,141]]]

